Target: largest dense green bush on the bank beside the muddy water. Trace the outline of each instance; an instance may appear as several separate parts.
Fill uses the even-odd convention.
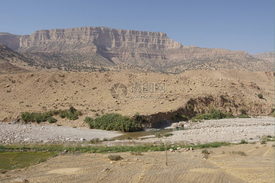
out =
[[[84,121],[88,123],[90,128],[101,130],[133,132],[141,129],[140,123],[135,122],[133,118],[117,113],[106,113],[94,119],[91,117],[85,117]]]

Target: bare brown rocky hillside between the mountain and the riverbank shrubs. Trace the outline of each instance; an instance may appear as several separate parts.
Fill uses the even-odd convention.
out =
[[[127,90],[115,85],[114,93],[115,83],[123,83]],[[157,122],[171,119],[177,110],[192,116],[210,108],[234,115],[270,115],[274,107],[274,72],[16,73],[1,74],[0,88],[1,121],[17,119],[23,112],[70,106],[83,112],[80,122],[84,116],[104,113],[152,114]]]

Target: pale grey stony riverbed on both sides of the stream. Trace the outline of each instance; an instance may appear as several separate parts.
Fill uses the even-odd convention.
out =
[[[182,142],[205,143],[213,141],[236,142],[241,139],[248,141],[259,140],[264,135],[274,136],[274,118],[232,118],[205,120],[202,122],[185,122],[186,130],[172,132],[170,137],[147,139],[115,140],[104,142],[107,145],[144,143],[144,142]],[[172,127],[172,126],[171,126]],[[27,142],[58,142],[58,141],[88,141],[93,138],[117,137],[122,134],[114,131],[103,131],[83,127],[0,123],[0,143]]]

